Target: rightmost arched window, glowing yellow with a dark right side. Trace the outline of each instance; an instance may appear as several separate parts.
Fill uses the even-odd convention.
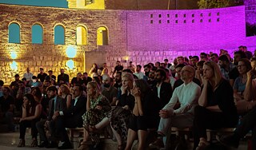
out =
[[[99,27],[97,30],[97,45],[108,45],[108,38],[106,27]]]

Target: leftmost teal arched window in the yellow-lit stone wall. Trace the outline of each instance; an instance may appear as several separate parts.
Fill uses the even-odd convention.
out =
[[[21,43],[20,26],[18,25],[18,23],[11,23],[8,27],[8,31],[10,43]]]

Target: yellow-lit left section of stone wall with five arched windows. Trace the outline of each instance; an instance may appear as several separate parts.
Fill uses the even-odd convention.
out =
[[[16,22],[20,26],[20,44],[8,43],[8,26]],[[43,44],[31,44],[31,28],[38,23],[43,28]],[[62,25],[65,29],[65,45],[54,45],[54,26]],[[82,25],[87,29],[88,45],[76,45],[76,27]],[[97,45],[97,29],[106,26],[109,31],[109,45]],[[65,68],[66,73],[75,77],[76,73],[89,71],[94,63],[106,61],[106,57],[90,57],[86,61],[85,53],[104,51],[108,53],[124,53],[126,49],[126,13],[114,10],[72,10],[36,6],[12,6],[0,4],[0,78],[5,83],[14,80],[14,74],[22,75],[26,67],[38,74],[40,67],[53,70],[58,75],[59,69]],[[75,68],[69,69],[66,61],[68,45],[74,45],[77,56],[73,58]],[[10,58],[10,52],[17,53],[15,60]],[[18,70],[10,69],[12,61],[18,64]],[[86,62],[86,63],[85,63]],[[107,62],[110,65],[110,62]]]

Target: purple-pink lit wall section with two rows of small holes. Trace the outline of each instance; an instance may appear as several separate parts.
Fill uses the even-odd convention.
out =
[[[130,11],[127,13],[127,50],[164,51],[170,57],[202,51],[218,53],[219,49],[233,53],[239,45],[246,44],[245,27],[245,6]]]

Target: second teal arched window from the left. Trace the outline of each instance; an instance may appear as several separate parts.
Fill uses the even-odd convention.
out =
[[[42,44],[42,26],[35,24],[32,26],[32,44]]]

